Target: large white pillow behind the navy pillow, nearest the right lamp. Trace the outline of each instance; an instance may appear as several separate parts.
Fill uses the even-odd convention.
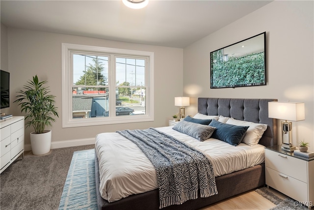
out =
[[[242,121],[242,120],[235,120],[233,118],[230,118],[227,122],[227,124],[232,125],[242,125],[242,126],[249,126],[249,128],[246,130],[246,134],[242,140],[243,143],[254,146],[257,145],[264,133],[264,131],[267,129],[266,124],[260,124],[260,123],[254,123],[249,121]]]

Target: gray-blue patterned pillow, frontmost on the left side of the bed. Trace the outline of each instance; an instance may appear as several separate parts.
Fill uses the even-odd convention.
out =
[[[198,139],[203,142],[209,139],[215,128],[209,125],[202,125],[194,122],[180,121],[172,129]]]

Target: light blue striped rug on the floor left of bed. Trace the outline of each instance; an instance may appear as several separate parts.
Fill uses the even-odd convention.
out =
[[[95,150],[73,153],[59,210],[97,210]]]

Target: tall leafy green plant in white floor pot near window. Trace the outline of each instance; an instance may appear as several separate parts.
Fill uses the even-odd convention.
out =
[[[28,80],[24,85],[25,90],[20,90],[14,101],[21,106],[21,112],[25,112],[26,127],[33,126],[34,132],[30,133],[30,144],[33,154],[40,155],[50,151],[51,130],[45,130],[46,126],[52,126],[53,116],[59,117],[57,107],[54,106],[54,95],[49,94],[49,87],[44,87],[47,81]]]

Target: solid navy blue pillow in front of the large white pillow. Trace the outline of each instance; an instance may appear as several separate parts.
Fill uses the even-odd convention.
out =
[[[212,120],[209,125],[212,127],[216,127],[211,135],[211,138],[219,139],[233,146],[237,146],[238,144],[240,144],[246,130],[249,128],[249,126],[225,124],[217,120]]]

